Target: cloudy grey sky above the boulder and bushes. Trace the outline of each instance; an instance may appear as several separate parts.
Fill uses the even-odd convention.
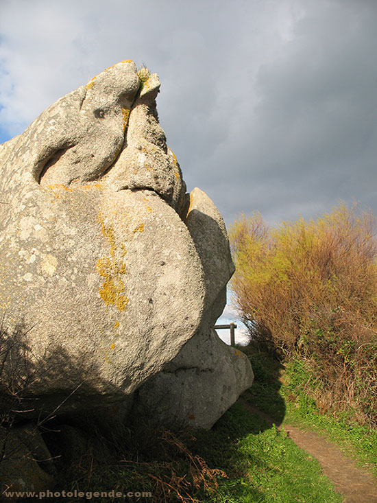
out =
[[[132,59],[160,76],[188,189],[228,225],[339,200],[377,215],[376,21],[375,0],[0,0],[0,142]]]

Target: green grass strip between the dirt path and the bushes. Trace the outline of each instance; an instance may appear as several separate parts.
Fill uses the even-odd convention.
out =
[[[266,353],[247,349],[255,369],[255,382],[244,398],[280,424],[308,428],[339,447],[357,464],[372,469],[377,476],[377,431],[350,421],[347,414],[321,414],[310,391],[315,376],[302,360],[291,360],[286,366]],[[268,369],[268,370],[267,370]],[[283,379],[281,379],[282,375]]]

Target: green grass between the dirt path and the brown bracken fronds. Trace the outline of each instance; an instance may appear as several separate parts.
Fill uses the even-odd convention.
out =
[[[228,474],[203,502],[341,502],[321,475],[317,460],[297,447],[275,426],[236,403],[212,432],[198,438],[199,452]],[[217,447],[217,448],[216,448]],[[214,455],[217,456],[214,459]]]

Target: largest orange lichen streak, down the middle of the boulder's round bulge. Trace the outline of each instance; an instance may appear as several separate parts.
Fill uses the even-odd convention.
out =
[[[126,272],[125,263],[115,256],[114,229],[105,225],[101,213],[98,215],[98,222],[101,224],[102,234],[108,238],[110,243],[110,257],[103,257],[97,261],[97,272],[105,279],[102,288],[99,288],[99,295],[106,305],[112,304],[119,311],[124,311],[128,303],[127,296],[124,294],[125,285],[122,281]]]

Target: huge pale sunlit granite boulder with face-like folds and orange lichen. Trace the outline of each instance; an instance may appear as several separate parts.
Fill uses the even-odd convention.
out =
[[[159,87],[118,63],[0,146],[0,308],[9,336],[27,330],[20,372],[47,408],[77,386],[62,410],[123,401],[225,304],[226,229],[206,194],[185,195]]]

